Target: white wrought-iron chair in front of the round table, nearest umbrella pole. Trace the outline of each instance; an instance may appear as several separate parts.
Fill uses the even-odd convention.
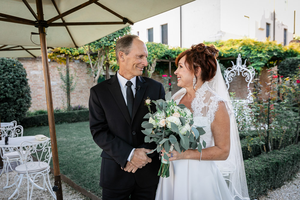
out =
[[[34,186],[44,191],[47,191],[48,189],[49,193],[53,196],[54,199],[56,199],[54,192],[51,190],[52,187],[49,179],[49,163],[52,158],[50,138],[46,139],[42,143],[26,141],[22,142],[20,148],[14,148],[14,150],[18,152],[19,157],[21,158],[21,162],[23,163],[19,166],[16,166],[16,168],[14,169],[14,171],[17,172],[17,175],[15,176],[15,185],[18,193],[15,199],[17,199],[19,196],[19,187],[21,186],[23,179],[27,179],[27,200],[32,198],[32,191]],[[38,177],[42,178],[43,187],[36,184],[36,178]],[[31,192],[29,192],[30,183],[32,184]],[[11,199],[14,195],[15,193],[13,193],[13,195],[10,196],[9,199]]]

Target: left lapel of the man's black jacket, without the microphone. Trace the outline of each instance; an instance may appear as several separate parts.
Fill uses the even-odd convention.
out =
[[[127,105],[124,100],[124,96],[121,91],[121,87],[120,87],[120,83],[118,81],[117,74],[115,76],[113,76],[108,83],[110,83],[108,89],[110,90],[111,94],[113,95],[114,99],[116,100],[126,121],[128,122],[129,125],[131,125],[130,115],[129,115],[128,108],[127,108]]]

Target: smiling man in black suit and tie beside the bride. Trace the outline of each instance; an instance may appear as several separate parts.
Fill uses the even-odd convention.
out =
[[[90,130],[103,150],[100,172],[102,198],[155,199],[159,181],[158,153],[146,155],[156,148],[145,143],[141,132],[143,117],[149,112],[145,99],[164,99],[163,85],[142,77],[147,67],[148,51],[136,35],[117,40],[116,58],[120,69],[90,90]],[[155,105],[151,106],[152,111]]]

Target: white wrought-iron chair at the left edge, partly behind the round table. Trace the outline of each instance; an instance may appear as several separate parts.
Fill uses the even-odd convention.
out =
[[[3,140],[6,136],[8,136],[9,138],[23,136],[23,127],[21,125],[16,125],[16,121],[12,121],[10,123],[13,123],[14,126],[13,127],[0,128],[0,134],[1,134]],[[5,173],[6,173],[6,185],[3,187],[5,189],[5,188],[9,188],[9,187],[12,186],[12,185],[8,186],[8,167],[10,167],[10,169],[13,170],[11,168],[11,165],[9,164],[9,162],[15,162],[16,161],[18,163],[20,157],[19,157],[19,154],[16,151],[14,151],[12,148],[5,148],[4,147],[4,148],[1,148],[1,149],[2,149],[2,151],[0,151],[0,156],[1,156],[1,159],[3,161],[3,168],[2,168],[2,171],[0,173],[0,177],[5,171]]]

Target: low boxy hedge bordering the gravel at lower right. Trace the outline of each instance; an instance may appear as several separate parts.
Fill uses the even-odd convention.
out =
[[[244,160],[247,185],[251,199],[281,187],[300,168],[300,145],[290,145],[249,160]]]

